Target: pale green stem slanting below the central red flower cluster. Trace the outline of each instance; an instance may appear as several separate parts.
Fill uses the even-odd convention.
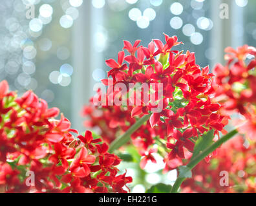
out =
[[[150,115],[145,115],[144,117],[140,118],[133,126],[131,126],[120,138],[116,138],[114,140],[110,147],[109,147],[109,153],[112,153],[114,150],[122,147],[122,145],[129,142],[131,135],[133,135],[134,131],[136,131],[144,122],[147,122],[149,120]]]

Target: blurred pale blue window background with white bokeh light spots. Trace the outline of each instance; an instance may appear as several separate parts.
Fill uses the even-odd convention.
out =
[[[106,77],[105,59],[117,58],[123,40],[177,35],[178,50],[197,64],[224,62],[226,46],[256,46],[253,0],[0,0],[0,80],[21,95],[32,89],[83,131],[78,116]],[[159,168],[163,165],[158,165]],[[155,165],[145,178],[161,182]],[[146,169],[147,171],[147,169]],[[167,174],[171,181],[173,174]],[[134,187],[143,192],[143,186]]]

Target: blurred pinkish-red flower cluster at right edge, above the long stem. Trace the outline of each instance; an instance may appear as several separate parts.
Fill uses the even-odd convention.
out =
[[[222,104],[223,114],[239,112],[245,117],[239,132],[255,140],[256,132],[256,48],[244,45],[234,50],[226,48],[226,65],[217,64],[213,81],[215,100]],[[246,60],[250,55],[251,60]],[[239,120],[239,123],[242,123]]]

